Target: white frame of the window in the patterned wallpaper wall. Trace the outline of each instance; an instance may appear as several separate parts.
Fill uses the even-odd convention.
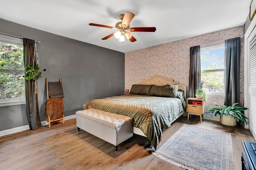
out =
[[[225,50],[225,41],[220,41],[218,43],[211,43],[207,45],[201,45],[200,46],[200,53],[201,51],[206,51],[206,50],[212,50],[212,49],[218,49],[218,48],[224,48]],[[226,64],[225,64],[225,53],[224,53],[224,68],[223,69],[214,69],[214,70],[201,70],[200,73],[202,72],[224,72],[224,78],[225,78],[225,70],[226,70]],[[200,66],[201,67],[201,66]],[[226,81],[224,80],[224,92],[206,92],[207,96],[225,96],[225,86],[226,86]]]

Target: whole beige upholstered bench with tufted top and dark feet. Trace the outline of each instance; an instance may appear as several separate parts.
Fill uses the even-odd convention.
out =
[[[132,118],[98,109],[76,111],[76,126],[107,141],[118,149],[118,145],[133,135]]]

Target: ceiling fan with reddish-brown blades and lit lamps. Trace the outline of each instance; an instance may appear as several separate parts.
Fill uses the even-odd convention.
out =
[[[102,40],[108,39],[112,36],[119,39],[119,41],[124,43],[124,35],[129,39],[131,42],[136,41],[136,39],[132,36],[131,33],[127,31],[132,32],[155,32],[156,27],[130,27],[130,22],[132,21],[132,18],[135,16],[131,12],[125,12],[125,14],[120,14],[120,19],[122,21],[116,23],[116,27],[111,27],[108,25],[101,25],[97,23],[89,23],[89,25],[97,26],[97,27],[105,27],[105,28],[112,28],[112,29],[118,29],[119,31],[111,33],[110,35],[107,35],[106,37],[102,38]]]

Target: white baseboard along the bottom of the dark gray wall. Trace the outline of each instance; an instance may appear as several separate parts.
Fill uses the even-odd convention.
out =
[[[74,119],[74,118],[76,118],[76,115],[70,115],[70,116],[65,116],[64,120],[69,120],[69,119]],[[49,125],[49,122],[42,121],[41,124],[42,124],[42,126],[45,126],[45,125]],[[26,131],[26,130],[29,130],[29,129],[30,129],[29,125],[15,127],[15,128],[12,128],[12,129],[6,129],[4,131],[0,131],[0,137],[6,136],[6,135],[11,135],[13,133],[18,133],[18,132],[21,132],[21,131]]]

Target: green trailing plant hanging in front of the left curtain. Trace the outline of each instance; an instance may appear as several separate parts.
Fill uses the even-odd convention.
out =
[[[38,80],[41,76],[40,68],[38,64],[28,64],[25,68],[25,78],[26,80]]]

